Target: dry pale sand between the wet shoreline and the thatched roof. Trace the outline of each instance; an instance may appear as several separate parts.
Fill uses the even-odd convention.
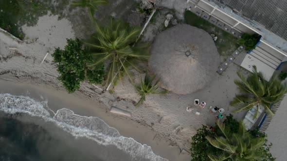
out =
[[[36,26],[24,26],[23,31],[29,37],[29,40],[23,44],[10,41],[9,37],[0,33],[0,80],[17,83],[25,81],[25,83],[32,83],[34,86],[53,87],[59,91],[52,89],[49,92],[46,89],[42,91],[58,97],[63,96],[63,98],[61,97],[64,99],[63,101],[72,102],[81,98],[79,102],[86,104],[84,100],[88,100],[89,108],[81,107],[72,110],[78,114],[85,114],[87,111],[87,115],[99,116],[110,126],[118,129],[124,136],[133,137],[142,144],[150,145],[156,154],[170,161],[190,160],[189,155],[183,155],[181,159],[178,158],[179,148],[189,151],[190,138],[196,133],[196,129],[200,128],[202,124],[214,125],[215,114],[209,113],[209,106],[216,105],[225,108],[225,114],[233,110],[232,107],[229,107],[229,102],[236,93],[233,80],[237,78],[235,73],[238,70],[238,67],[233,64],[222,76],[217,75],[209,86],[195,94],[177,95],[170,93],[163,96],[148,96],[139,108],[135,108],[132,104],[132,101],[138,101],[139,97],[133,86],[126,80],[118,83],[113,95],[108,92],[100,94],[101,91],[96,90],[88,83],[82,83],[78,92],[68,95],[56,79],[58,73],[52,62],[51,53],[56,47],[63,48],[66,44],[66,38],[74,37],[71,23],[67,19],[58,20],[57,16],[43,16],[39,17]],[[33,42],[32,39],[36,38],[37,40],[33,40]],[[18,49],[11,50],[9,48]],[[47,51],[50,54],[44,63],[40,64]],[[137,77],[136,80],[138,81]],[[13,85],[10,84],[10,86]],[[186,111],[186,107],[191,106],[195,98],[205,101],[207,105],[202,110],[195,109],[189,113]],[[95,104],[97,101],[102,102],[102,104]],[[93,104],[94,106],[92,106]],[[131,118],[106,113],[111,105],[131,112]],[[89,113],[90,110],[94,112]],[[101,113],[99,114],[98,111]],[[200,115],[196,115],[196,112],[199,112]],[[234,114],[234,116],[241,119],[242,114]],[[156,137],[155,134],[157,134]]]

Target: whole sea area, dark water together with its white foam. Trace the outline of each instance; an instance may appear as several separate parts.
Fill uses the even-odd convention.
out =
[[[97,117],[0,94],[0,161],[167,161]]]

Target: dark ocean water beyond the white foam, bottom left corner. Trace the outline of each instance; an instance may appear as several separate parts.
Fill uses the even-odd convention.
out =
[[[0,118],[0,161],[102,161],[52,136],[42,127],[11,116]]]

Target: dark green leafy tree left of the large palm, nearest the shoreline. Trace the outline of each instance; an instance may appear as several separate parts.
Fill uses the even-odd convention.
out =
[[[58,79],[69,93],[80,88],[80,82],[86,79],[86,75],[91,83],[101,83],[104,79],[105,72],[102,64],[92,71],[87,68],[87,63],[91,62],[88,52],[89,48],[83,46],[79,39],[67,39],[65,49],[56,48],[52,54],[61,75]]]

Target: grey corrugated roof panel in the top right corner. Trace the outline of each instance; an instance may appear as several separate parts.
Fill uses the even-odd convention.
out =
[[[287,0],[217,0],[287,40]]]

